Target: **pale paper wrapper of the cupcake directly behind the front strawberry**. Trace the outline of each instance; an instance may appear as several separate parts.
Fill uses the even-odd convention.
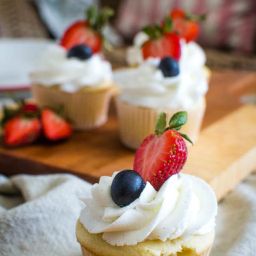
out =
[[[115,102],[120,139],[125,146],[131,149],[137,149],[142,140],[154,132],[156,119],[160,111],[164,111],[167,115],[167,120],[169,120],[173,114],[184,110],[168,108],[153,109],[134,106],[122,101],[118,95],[115,98]],[[180,132],[187,134],[193,142],[196,142],[198,138],[205,107],[205,98],[202,97],[193,107],[187,110],[188,122],[180,130]]]

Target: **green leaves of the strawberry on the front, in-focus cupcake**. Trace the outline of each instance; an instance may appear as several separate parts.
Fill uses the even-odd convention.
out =
[[[188,113],[187,111],[179,111],[175,113],[170,121],[169,121],[169,126],[166,127],[166,114],[161,111],[158,114],[157,120],[156,120],[156,125],[155,125],[155,133],[156,135],[162,135],[165,131],[167,130],[175,130],[179,131],[182,127],[182,125],[185,125],[188,121]],[[194,145],[193,141],[191,141],[188,137],[188,135],[183,134],[179,132],[181,137],[189,141],[192,145]]]

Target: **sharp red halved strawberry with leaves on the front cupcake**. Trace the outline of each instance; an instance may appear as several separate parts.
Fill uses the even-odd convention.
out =
[[[187,135],[178,132],[187,122],[186,111],[173,115],[167,128],[165,118],[164,113],[159,114],[155,133],[143,140],[136,151],[133,164],[133,170],[145,182],[149,181],[156,190],[171,175],[178,173],[187,160],[187,146],[182,137],[191,142]]]

